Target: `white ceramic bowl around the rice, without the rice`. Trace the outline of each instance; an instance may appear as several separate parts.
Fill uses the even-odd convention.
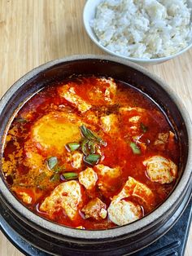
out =
[[[176,54],[169,55],[167,57],[150,59],[150,60],[149,59],[127,57],[127,56],[124,56],[124,55],[117,54],[114,51],[110,51],[109,49],[107,49],[107,47],[103,46],[101,43],[98,42],[98,38],[97,38],[96,34],[94,33],[94,30],[90,26],[90,20],[94,19],[96,7],[98,6],[98,4],[100,2],[103,2],[103,0],[87,0],[87,2],[85,3],[84,12],[83,12],[83,21],[84,21],[84,25],[85,25],[85,30],[88,33],[89,38],[91,38],[91,40],[98,47],[100,47],[103,51],[106,51],[110,55],[115,55],[117,57],[133,61],[133,62],[135,62],[137,64],[159,64],[159,63],[162,63],[162,62],[164,62],[166,60],[171,60],[172,58],[175,58],[178,55],[181,55],[185,51],[189,50],[190,47],[192,46],[192,38],[191,38],[191,41],[190,41],[189,45],[186,46],[181,51],[177,52]],[[188,0],[187,2],[188,2],[188,6],[192,8],[192,2],[190,0]]]

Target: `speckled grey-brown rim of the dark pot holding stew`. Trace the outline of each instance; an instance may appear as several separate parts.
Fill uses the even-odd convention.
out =
[[[19,212],[21,216],[23,216],[29,223],[34,223],[35,225],[42,227],[47,232],[57,233],[59,236],[70,236],[73,239],[82,239],[82,240],[89,240],[89,241],[97,241],[97,240],[105,240],[105,239],[115,239],[120,236],[124,236],[125,234],[139,232],[141,230],[147,229],[149,226],[155,225],[155,222],[162,216],[166,214],[168,210],[172,210],[172,205],[178,204],[181,201],[182,193],[185,193],[189,184],[192,180],[192,148],[191,148],[191,138],[192,138],[192,126],[189,114],[185,109],[184,105],[181,102],[181,99],[177,97],[177,95],[172,91],[172,89],[159,77],[155,76],[154,74],[149,73],[145,68],[137,64],[133,64],[128,60],[122,60],[120,58],[106,56],[106,55],[74,55],[69,56],[59,60],[52,60],[46,64],[42,64],[41,66],[34,68],[32,71],[21,77],[20,80],[15,82],[13,86],[7,91],[7,93],[2,96],[0,101],[0,115],[2,114],[3,107],[9,100],[11,99],[11,95],[14,95],[17,89],[27,82],[29,79],[36,77],[38,73],[42,73],[46,71],[47,68],[51,68],[56,64],[62,64],[65,62],[73,62],[76,60],[100,60],[101,62],[109,61],[109,62],[116,62],[119,64],[127,65],[131,68],[136,69],[137,71],[145,74],[146,76],[150,77],[152,80],[157,82],[159,86],[161,86],[165,91],[168,92],[168,95],[172,98],[172,101],[177,104],[177,107],[180,109],[181,115],[185,121],[185,126],[189,138],[189,151],[188,151],[188,159],[185,166],[185,171],[183,172],[179,183],[177,183],[177,187],[173,190],[168,199],[160,205],[156,210],[154,210],[151,214],[146,215],[146,217],[137,220],[134,223],[129,223],[128,225],[116,227],[107,230],[81,230],[71,227],[64,227],[56,223],[51,223],[50,221],[41,218],[37,214],[33,214],[32,211],[28,210],[24,205],[18,201],[15,196],[11,194],[9,189],[7,188],[6,183],[0,179],[0,188],[2,196],[6,199],[9,205]]]

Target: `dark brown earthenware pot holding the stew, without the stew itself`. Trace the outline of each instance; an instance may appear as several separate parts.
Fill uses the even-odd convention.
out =
[[[24,101],[51,82],[59,82],[72,75],[93,74],[129,83],[155,100],[177,131],[181,144],[180,174],[171,195],[151,214],[123,227],[86,231],[59,226],[26,209],[9,191],[1,170],[0,201],[7,216],[14,219],[11,226],[29,243],[55,255],[79,255],[82,252],[84,255],[120,255],[122,248],[126,248],[126,254],[127,251],[132,254],[151,244],[172,227],[185,210],[192,191],[192,130],[190,118],[181,100],[163,81],[146,69],[109,56],[79,55],[54,60],[33,69],[11,86],[0,101],[0,167],[7,126]],[[5,218],[9,222],[9,217]]]

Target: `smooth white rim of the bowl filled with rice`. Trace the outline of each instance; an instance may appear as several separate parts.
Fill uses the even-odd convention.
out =
[[[103,0],[100,0],[100,2],[102,2],[102,1]],[[89,38],[92,40],[92,42],[94,42],[100,49],[102,49],[103,51],[106,51],[110,55],[114,55],[116,57],[123,58],[124,60],[130,60],[130,61],[133,61],[136,63],[155,64],[155,63],[161,63],[161,62],[164,62],[167,60],[171,60],[171,59],[185,53],[185,51],[188,51],[192,47],[192,38],[191,38],[189,45],[185,46],[185,48],[181,49],[181,51],[178,51],[177,53],[175,53],[173,55],[168,55],[165,57],[159,57],[159,58],[153,58],[153,59],[133,58],[133,57],[129,57],[129,56],[120,55],[114,51],[111,51],[111,50],[107,49],[107,47],[103,46],[98,41],[98,38],[97,38],[96,34],[94,33],[93,28],[91,28],[89,22],[87,22],[86,15],[87,15],[87,13],[89,13],[89,5],[91,4],[91,2],[93,2],[93,0],[87,0],[85,2],[85,6],[84,6],[84,10],[83,10],[83,23],[84,23],[85,31],[86,31],[87,35],[89,36]],[[92,33],[89,32],[89,29],[92,31]]]

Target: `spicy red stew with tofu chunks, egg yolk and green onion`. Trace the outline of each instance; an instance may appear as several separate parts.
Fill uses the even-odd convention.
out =
[[[161,110],[108,77],[78,77],[29,99],[7,132],[2,168],[29,210],[55,223],[106,229],[164,202],[179,146]]]

